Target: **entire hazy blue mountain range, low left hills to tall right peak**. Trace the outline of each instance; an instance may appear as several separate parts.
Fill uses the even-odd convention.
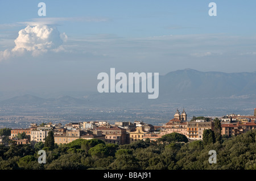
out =
[[[253,73],[222,73],[184,69],[159,76],[158,99],[147,99],[148,93],[73,92],[57,98],[34,95],[15,96],[0,101],[0,106],[150,106],[180,103],[182,105],[206,103],[234,104],[256,107],[256,71]],[[209,105],[210,106],[210,105]]]

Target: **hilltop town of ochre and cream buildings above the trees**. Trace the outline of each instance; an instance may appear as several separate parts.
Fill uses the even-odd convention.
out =
[[[214,121],[221,121],[221,135],[231,137],[246,133],[256,128],[256,108],[254,115],[225,115],[221,118],[195,117],[187,120],[187,113],[176,110],[174,117],[165,125],[152,125],[141,121],[132,122],[115,122],[109,124],[108,121],[83,121],[78,123],[68,123],[65,125],[42,123],[30,124],[29,128],[11,129],[9,140],[16,144],[35,144],[44,142],[50,131],[53,132],[55,143],[68,144],[79,138],[90,140],[96,138],[107,143],[118,145],[130,144],[138,140],[156,141],[165,134],[180,133],[184,134],[189,141],[202,140],[205,129],[214,129]],[[23,135],[23,136],[20,136]],[[6,139],[0,138],[2,145],[8,145]]]

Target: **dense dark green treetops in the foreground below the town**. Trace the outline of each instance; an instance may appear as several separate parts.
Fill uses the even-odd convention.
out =
[[[171,133],[156,142],[127,145],[78,139],[66,145],[0,145],[0,169],[256,169],[256,130],[231,138],[216,139],[205,131],[203,141]],[[46,164],[38,163],[38,151],[46,150]],[[217,163],[210,164],[209,150],[216,150]]]

